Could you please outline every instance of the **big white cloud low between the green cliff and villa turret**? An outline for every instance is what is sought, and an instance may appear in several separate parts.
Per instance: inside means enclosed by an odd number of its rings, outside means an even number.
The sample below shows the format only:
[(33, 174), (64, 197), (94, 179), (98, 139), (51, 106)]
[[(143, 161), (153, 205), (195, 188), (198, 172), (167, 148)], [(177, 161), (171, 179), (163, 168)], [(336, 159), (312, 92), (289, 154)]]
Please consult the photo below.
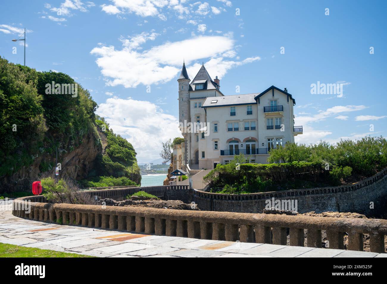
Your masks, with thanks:
[(108, 121), (115, 133), (132, 143), (140, 163), (159, 158), (162, 142), (181, 137), (175, 116), (163, 113), (149, 101), (108, 98), (96, 113)]

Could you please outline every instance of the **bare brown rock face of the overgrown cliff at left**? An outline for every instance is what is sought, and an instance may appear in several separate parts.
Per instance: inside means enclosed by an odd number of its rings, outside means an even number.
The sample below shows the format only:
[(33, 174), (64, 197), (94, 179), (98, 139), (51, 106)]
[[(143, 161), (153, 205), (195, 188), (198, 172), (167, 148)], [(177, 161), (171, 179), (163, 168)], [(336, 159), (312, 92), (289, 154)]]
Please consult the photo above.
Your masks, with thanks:
[[(82, 144), (71, 152), (62, 151), (59, 147), (58, 160), (60, 157), (60, 162), (62, 163), (62, 170), (59, 171), (59, 176), (70, 177), (77, 180), (86, 177), (94, 164), (94, 159), (100, 152), (101, 147), (97, 146), (94, 136), (91, 133), (87, 134), (86, 138), (82, 140)], [(14, 175), (2, 178), (0, 182), (0, 192), (31, 190), (33, 181), (39, 180), (39, 174), (41, 173), (39, 165), (44, 159), (43, 155), (36, 157), (33, 164), (28, 167), (22, 167)], [(55, 157), (55, 154), (52, 156)], [(55, 158), (53, 159), (53, 163), (55, 164)], [(54, 170), (55, 169), (53, 168), (46, 173), (52, 173)]]

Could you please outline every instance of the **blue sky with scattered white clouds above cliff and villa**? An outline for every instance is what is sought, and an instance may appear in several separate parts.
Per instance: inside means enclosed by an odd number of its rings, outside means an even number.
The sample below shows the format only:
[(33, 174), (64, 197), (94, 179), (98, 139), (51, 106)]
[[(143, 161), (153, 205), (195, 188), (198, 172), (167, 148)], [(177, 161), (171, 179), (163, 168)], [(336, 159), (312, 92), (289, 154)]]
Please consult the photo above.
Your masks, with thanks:
[[(296, 99), (295, 124), (304, 127), (296, 142), (386, 135), (385, 1), (0, 5), (0, 56), (23, 63), (21, 42), (11, 39), (26, 27), (26, 65), (67, 73), (89, 89), (97, 113), (134, 145), (139, 162), (157, 159), (161, 142), (179, 136), (183, 58), (191, 79), (204, 62), (225, 95), (236, 86), (241, 94), (286, 87)], [(342, 83), (344, 95), (311, 94), (318, 81)]]

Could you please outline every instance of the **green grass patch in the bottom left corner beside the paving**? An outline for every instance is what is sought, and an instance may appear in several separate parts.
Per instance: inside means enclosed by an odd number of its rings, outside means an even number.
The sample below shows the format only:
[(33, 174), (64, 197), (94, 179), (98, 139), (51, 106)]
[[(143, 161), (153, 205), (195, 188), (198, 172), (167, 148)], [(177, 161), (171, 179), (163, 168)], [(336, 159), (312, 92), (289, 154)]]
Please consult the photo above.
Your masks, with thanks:
[(0, 257), (91, 257), (77, 253), (67, 253), (40, 248), (26, 248), (24, 246), (0, 243)]

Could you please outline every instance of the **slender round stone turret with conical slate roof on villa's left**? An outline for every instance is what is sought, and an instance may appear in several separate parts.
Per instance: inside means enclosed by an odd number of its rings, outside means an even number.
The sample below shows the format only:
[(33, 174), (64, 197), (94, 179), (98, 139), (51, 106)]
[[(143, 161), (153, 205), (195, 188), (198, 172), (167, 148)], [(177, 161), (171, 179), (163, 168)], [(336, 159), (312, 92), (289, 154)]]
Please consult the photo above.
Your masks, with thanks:
[[(190, 78), (187, 74), (187, 69), (185, 68), (185, 62), (183, 62), (182, 72), (180, 73), (179, 78), (179, 122), (182, 125), (187, 125), (190, 122), (190, 98), (189, 98), (189, 87), (190, 87)], [(188, 142), (190, 142), (190, 133), (186, 133), (184, 129), (180, 129), (184, 137), (184, 161), (185, 164), (188, 163)]]

